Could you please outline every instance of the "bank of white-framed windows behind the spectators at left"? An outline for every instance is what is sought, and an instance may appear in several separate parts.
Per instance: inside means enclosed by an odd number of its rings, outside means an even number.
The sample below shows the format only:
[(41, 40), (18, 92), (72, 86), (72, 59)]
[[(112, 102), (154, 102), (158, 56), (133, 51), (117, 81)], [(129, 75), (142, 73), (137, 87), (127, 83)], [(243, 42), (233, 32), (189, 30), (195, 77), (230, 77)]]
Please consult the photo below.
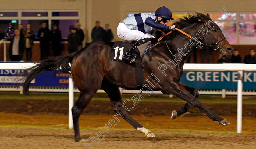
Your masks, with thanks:
[[(58, 25), (59, 30), (62, 33), (62, 39), (67, 39), (70, 34), (70, 29), (76, 26), (79, 22), (79, 11), (70, 10), (49, 10), (49, 11), (1, 11), (0, 12), (0, 39), (4, 38), (5, 29), (9, 23), (12, 22), (14, 28), (18, 28), (18, 24), (23, 24), (23, 28), (26, 28), (27, 24), (31, 25), (34, 29), (34, 35), (36, 37), (38, 30), (42, 27), (42, 23), (46, 23), (51, 30), (54, 24)], [(37, 37), (35, 41), (38, 41)]]

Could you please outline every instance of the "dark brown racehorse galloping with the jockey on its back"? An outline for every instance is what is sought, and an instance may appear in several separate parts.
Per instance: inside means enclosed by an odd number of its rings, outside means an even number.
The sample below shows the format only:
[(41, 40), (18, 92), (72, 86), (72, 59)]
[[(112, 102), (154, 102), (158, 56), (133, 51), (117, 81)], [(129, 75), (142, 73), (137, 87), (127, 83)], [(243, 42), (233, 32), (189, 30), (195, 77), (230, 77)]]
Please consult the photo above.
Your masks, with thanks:
[[(224, 37), (220, 28), (217, 25), (210, 28), (208, 26), (209, 20), (211, 20), (209, 14), (206, 16), (201, 13), (196, 13), (192, 15), (189, 14), (174, 23), (176, 28), (182, 29), (189, 35), (198, 34), (198, 36), (194, 36), (193, 42), (190, 42), (189, 37), (176, 30), (165, 36), (162, 41), (152, 41), (150, 50), (144, 54), (141, 62), (143, 76), (144, 82), (148, 82), (147, 77), (151, 76), (152, 73), (160, 80), (157, 85), (154, 84), (155, 87), (152, 88), (152, 90), (160, 90), (163, 94), (173, 94), (187, 101), (179, 111), (172, 112), (172, 119), (187, 112), (191, 106), (194, 106), (199, 108), (213, 121), (218, 121), (220, 125), (226, 125), (229, 124), (228, 121), (210, 111), (197, 99), (199, 94), (196, 88), (180, 83), (180, 78), (183, 74), (183, 61), (190, 55), (193, 49), (196, 49), (196, 42), (210, 48), (212, 47), (215, 51), (221, 53), (222, 56), (232, 54), (233, 48)], [(202, 30), (202, 28), (206, 31), (208, 30), (209, 33), (198, 32)], [(182, 48), (184, 45), (190, 43), (193, 43), (192, 48), (186, 51), (183, 49), (183, 54), (181, 54), (178, 48)], [(110, 59), (113, 52), (113, 44), (114, 43), (104, 41), (91, 42), (75, 53), (40, 61), (36, 66), (30, 68), (28, 75), (25, 76), (23, 94), (28, 95), (30, 82), (42, 72), (59, 68), (61, 68), (63, 72), (71, 72), (74, 83), (80, 91), (79, 98), (72, 107), (76, 142), (82, 140), (79, 132), (79, 116), (99, 89), (104, 90), (108, 94), (114, 111), (123, 115), (124, 119), (137, 129), (137, 131), (145, 133), (146, 137), (155, 136), (152, 132), (135, 121), (126, 112), (123, 106), (119, 87), (130, 90), (139, 90), (139, 88), (136, 85), (133, 64)], [(174, 55), (179, 53), (180, 58), (177, 60), (177, 57), (174, 57)], [(163, 74), (158, 67), (162, 64), (166, 64), (166, 62), (168, 63), (168, 68), (170, 67), (172, 69), (166, 69), (164, 71), (165, 74)]]

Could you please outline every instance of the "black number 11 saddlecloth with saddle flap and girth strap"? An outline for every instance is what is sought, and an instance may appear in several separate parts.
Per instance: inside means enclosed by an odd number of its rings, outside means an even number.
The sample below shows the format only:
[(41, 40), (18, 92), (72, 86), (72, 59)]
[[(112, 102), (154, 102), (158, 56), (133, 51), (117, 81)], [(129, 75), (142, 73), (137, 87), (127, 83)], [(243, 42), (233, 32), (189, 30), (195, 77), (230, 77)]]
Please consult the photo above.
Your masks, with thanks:
[[(146, 41), (144, 44), (139, 45), (132, 54), (133, 56), (136, 56), (135, 60), (137, 63), (135, 64), (133, 63), (131, 65), (134, 67), (136, 85), (138, 89), (144, 86), (144, 78), (143, 78), (141, 61), (142, 61), (142, 56), (148, 51), (148, 47), (150, 43), (151, 41), (148, 41), (148, 42)], [(116, 41), (112, 48), (113, 53), (111, 55), (111, 60), (128, 63), (127, 61), (122, 60), (122, 56), (125, 54), (126, 51), (130, 49), (132, 45), (133, 44), (131, 43)]]

